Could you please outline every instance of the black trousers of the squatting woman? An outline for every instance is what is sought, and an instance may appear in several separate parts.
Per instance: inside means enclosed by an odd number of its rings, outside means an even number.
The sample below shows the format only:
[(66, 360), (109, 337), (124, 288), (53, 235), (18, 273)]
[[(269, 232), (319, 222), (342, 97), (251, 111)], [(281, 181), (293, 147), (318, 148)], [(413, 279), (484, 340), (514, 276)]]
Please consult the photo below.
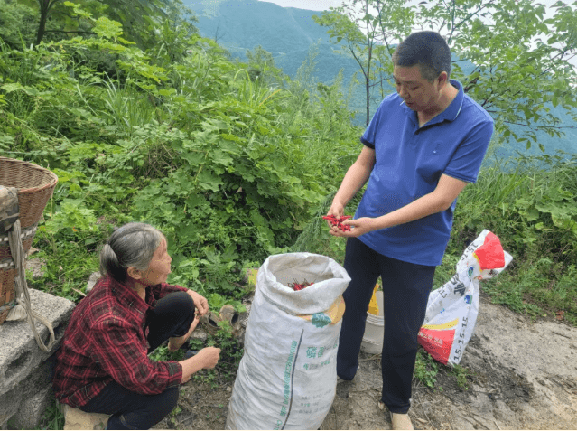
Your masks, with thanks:
[[(174, 292), (164, 296), (154, 306), (149, 320), (149, 352), (171, 337), (188, 333), (193, 319), (194, 303), (190, 295)], [(112, 415), (108, 419), (108, 429), (149, 429), (176, 407), (178, 397), (178, 387), (166, 389), (157, 395), (143, 395), (113, 381), (80, 409), (88, 413)]]

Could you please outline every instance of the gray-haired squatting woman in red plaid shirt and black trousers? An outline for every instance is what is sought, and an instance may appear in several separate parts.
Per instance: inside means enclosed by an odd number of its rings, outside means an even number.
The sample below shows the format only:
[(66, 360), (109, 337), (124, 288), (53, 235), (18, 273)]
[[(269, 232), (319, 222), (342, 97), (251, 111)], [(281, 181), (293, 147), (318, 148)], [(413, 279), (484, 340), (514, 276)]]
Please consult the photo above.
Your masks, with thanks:
[(64, 334), (54, 391), (61, 403), (112, 415), (108, 429), (148, 429), (176, 406), (181, 383), (219, 361), (215, 347), (180, 362), (148, 358), (166, 340), (171, 351), (179, 349), (209, 305), (190, 289), (166, 284), (166, 239), (144, 223), (114, 231), (100, 253), (100, 269), (104, 276), (80, 301)]

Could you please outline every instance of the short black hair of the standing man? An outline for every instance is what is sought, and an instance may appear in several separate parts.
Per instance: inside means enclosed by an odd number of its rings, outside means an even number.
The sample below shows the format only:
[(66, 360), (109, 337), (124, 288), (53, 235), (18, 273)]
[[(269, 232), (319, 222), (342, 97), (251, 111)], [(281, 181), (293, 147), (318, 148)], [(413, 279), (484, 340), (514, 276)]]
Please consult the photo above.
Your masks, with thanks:
[(405, 68), (419, 66), (425, 80), (433, 82), (442, 71), (451, 76), (451, 50), (436, 32), (417, 32), (405, 38), (393, 53), (393, 64)]

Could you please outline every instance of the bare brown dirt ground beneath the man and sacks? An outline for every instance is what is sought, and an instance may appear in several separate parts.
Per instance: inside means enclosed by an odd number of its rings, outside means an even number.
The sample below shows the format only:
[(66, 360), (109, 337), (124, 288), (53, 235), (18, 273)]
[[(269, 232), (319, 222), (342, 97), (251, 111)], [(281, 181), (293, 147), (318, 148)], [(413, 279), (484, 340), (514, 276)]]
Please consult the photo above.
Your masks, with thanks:
[[(380, 356), (361, 352), (360, 361), (355, 379), (337, 385), (321, 429), (390, 429), (377, 408)], [(468, 389), (442, 366), (433, 389), (414, 379), (409, 415), (416, 429), (576, 428), (577, 328), (534, 323), (481, 297), (461, 366), (471, 373)], [(191, 380), (181, 389), (181, 411), (155, 428), (224, 429), (232, 387)]]

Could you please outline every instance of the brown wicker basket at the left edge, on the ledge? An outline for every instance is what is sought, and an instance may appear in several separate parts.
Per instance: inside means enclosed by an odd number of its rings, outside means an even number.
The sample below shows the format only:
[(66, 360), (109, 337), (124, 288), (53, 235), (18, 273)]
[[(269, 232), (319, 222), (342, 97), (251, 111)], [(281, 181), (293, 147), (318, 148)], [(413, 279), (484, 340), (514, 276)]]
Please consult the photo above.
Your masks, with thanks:
[[(32, 246), (36, 226), (56, 183), (58, 177), (48, 169), (37, 164), (0, 157), (0, 185), (18, 189), (24, 252)], [(0, 324), (5, 322), (10, 308), (14, 306), (16, 270), (11, 259), (8, 241), (0, 239)]]

